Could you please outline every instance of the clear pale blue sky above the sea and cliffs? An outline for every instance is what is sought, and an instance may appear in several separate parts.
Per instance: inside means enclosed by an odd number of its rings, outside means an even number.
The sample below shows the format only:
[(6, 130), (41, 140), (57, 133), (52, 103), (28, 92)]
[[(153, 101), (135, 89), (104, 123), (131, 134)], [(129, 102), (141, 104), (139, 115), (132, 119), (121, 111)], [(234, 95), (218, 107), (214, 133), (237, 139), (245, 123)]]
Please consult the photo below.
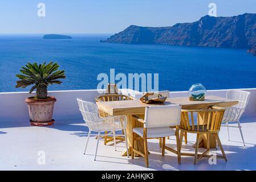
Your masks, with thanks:
[[(113, 34), (131, 24), (194, 22), (216, 3), (217, 16), (256, 13), (256, 0), (0, 0), (0, 34)], [(38, 16), (38, 3), (46, 16)]]

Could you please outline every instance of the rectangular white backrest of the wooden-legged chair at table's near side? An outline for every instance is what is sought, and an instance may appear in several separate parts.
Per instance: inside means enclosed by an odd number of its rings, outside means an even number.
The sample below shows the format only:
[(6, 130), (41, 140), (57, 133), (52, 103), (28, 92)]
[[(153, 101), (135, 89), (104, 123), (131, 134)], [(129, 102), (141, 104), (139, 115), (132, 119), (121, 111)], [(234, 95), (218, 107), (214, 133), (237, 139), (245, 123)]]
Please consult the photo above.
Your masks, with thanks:
[(146, 107), (144, 127), (169, 127), (180, 125), (181, 106)]

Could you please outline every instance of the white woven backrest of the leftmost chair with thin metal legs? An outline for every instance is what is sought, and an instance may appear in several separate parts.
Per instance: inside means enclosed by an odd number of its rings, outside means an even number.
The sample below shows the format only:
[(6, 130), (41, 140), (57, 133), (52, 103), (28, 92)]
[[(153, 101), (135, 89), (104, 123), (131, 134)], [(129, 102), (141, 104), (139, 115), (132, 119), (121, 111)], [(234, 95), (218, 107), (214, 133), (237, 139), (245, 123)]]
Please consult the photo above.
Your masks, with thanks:
[(90, 129), (94, 129), (93, 123), (100, 122), (97, 105), (93, 102), (83, 101), (78, 98), (79, 110), (83, 115), (84, 121), (87, 123)]

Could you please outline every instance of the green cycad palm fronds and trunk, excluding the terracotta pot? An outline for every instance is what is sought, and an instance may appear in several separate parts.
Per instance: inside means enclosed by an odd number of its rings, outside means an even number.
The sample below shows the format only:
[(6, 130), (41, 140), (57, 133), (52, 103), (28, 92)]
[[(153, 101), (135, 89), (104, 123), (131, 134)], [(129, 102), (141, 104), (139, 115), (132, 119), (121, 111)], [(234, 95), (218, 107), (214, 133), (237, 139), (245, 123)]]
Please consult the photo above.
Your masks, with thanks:
[(59, 79), (66, 78), (64, 71), (58, 71), (59, 65), (57, 63), (27, 63), (26, 67), (22, 67), (21, 73), (23, 75), (16, 75), (19, 78), (16, 88), (26, 88), (33, 85), (30, 89), (32, 93), (36, 89), (36, 99), (47, 98), (47, 87), (49, 84), (61, 84)]

